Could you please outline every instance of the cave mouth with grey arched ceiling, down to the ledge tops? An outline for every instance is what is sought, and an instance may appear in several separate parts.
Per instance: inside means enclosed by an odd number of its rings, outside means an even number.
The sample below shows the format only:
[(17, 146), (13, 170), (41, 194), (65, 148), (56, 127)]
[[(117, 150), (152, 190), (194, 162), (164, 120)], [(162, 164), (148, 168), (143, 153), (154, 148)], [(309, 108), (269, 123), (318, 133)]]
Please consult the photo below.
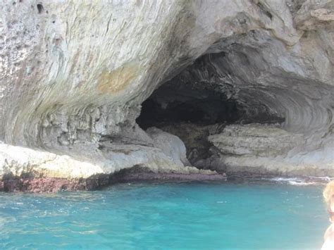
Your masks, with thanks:
[[(234, 57), (242, 58), (238, 59), (240, 65), (247, 70), (250, 66), (245, 62), (245, 55), (236, 53)], [(264, 91), (261, 85), (256, 89), (254, 82), (234, 75), (230, 61), (225, 52), (197, 58), (171, 80), (159, 85), (142, 103), (137, 124), (146, 130), (148, 127), (178, 123), (202, 126), (217, 123), (284, 123), (285, 114), (276, 110), (280, 105), (272, 105), (274, 93), (271, 92), (277, 89)]]

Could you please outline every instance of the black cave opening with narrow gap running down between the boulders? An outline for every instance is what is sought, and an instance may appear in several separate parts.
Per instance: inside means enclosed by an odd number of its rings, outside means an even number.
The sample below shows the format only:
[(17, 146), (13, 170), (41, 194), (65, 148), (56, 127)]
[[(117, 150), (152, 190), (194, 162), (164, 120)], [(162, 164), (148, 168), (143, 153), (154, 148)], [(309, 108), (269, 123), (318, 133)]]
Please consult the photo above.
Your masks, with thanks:
[(180, 137), (187, 149), (187, 159), (199, 168), (201, 160), (214, 154), (208, 141), (211, 133), (225, 125), (238, 123), (243, 109), (235, 99), (207, 85), (192, 85), (179, 79), (166, 82), (142, 104), (137, 124), (143, 130), (158, 127)]

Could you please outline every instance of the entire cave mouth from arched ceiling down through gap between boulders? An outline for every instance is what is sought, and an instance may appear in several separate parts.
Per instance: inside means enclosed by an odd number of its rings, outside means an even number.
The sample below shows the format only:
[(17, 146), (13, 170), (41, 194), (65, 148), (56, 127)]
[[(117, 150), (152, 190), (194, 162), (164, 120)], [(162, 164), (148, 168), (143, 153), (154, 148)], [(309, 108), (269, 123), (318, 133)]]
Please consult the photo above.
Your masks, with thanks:
[[(252, 135), (252, 128), (247, 132), (244, 125), (253, 123), (253, 127), (261, 130), (259, 124), (262, 124), (267, 131), (266, 125), (280, 126), (285, 122), (280, 113), (267, 105), (270, 94), (247, 87), (247, 82), (241, 86), (234, 84), (232, 71), (226, 69), (225, 57), (225, 53), (205, 54), (164, 82), (142, 103), (136, 120), (143, 130), (158, 127), (178, 136), (185, 144), (188, 161), (197, 168), (217, 170), (216, 163), (211, 160), (225, 153), (219, 151), (209, 137), (223, 135), (225, 127), (236, 125), (232, 137), (238, 146), (237, 142), (243, 140), (259, 140), (257, 135)], [(263, 132), (259, 134), (257, 137)], [(223, 138), (226, 136), (229, 135), (224, 134)], [(263, 137), (266, 140), (267, 135)]]

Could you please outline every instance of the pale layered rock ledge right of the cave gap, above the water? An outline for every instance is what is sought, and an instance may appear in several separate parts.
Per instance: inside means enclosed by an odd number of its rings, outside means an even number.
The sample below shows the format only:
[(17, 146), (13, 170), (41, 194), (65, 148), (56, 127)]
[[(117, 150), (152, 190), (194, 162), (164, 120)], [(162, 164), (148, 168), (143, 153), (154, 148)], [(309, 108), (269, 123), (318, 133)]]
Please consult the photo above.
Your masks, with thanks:
[(221, 134), (209, 136), (209, 142), (220, 151), (209, 161), (216, 161), (214, 165), (223, 166), (228, 173), (334, 175), (333, 162), (326, 162), (330, 148), (328, 152), (322, 151), (322, 155), (314, 152), (298, 156), (296, 149), (304, 146), (304, 135), (287, 132), (275, 125), (230, 125)]

